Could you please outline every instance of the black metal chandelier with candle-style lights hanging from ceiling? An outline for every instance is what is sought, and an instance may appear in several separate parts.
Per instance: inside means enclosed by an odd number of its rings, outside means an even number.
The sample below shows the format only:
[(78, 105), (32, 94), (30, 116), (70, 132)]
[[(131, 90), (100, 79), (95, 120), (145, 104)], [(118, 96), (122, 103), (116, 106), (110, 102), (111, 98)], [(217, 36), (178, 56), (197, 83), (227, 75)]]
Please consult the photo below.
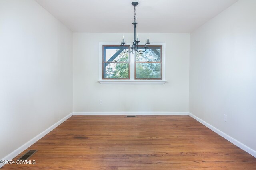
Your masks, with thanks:
[(122, 51), (124, 51), (124, 53), (139, 53), (139, 54), (143, 54), (145, 53), (145, 51), (148, 49), (148, 45), (150, 44), (149, 42), (149, 39), (146, 40), (145, 42), (145, 45), (142, 47), (142, 49), (140, 47), (138, 47), (139, 45), (139, 35), (137, 33), (137, 39), (136, 39), (136, 25), (137, 25), (137, 22), (136, 22), (136, 6), (138, 5), (139, 3), (138, 2), (132, 2), (132, 5), (134, 6), (134, 22), (132, 23), (133, 26), (134, 26), (134, 39), (133, 39), (133, 42), (132, 42), (132, 47), (130, 47), (131, 50), (127, 51), (124, 47), (124, 44), (126, 44), (126, 42), (124, 42), (124, 36), (123, 36), (123, 39), (121, 41), (121, 48), (122, 48)]

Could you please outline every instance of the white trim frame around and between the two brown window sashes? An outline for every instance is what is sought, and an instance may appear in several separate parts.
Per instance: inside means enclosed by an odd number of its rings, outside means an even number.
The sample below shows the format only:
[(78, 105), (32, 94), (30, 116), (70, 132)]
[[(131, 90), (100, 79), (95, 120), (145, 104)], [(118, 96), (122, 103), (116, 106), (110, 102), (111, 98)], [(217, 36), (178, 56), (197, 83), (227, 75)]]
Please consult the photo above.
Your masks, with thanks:
[[(129, 80), (110, 80), (102, 79), (102, 46), (103, 45), (120, 45), (120, 43), (100, 43), (99, 45), (99, 80), (100, 84), (164, 84), (165, 80), (165, 43), (150, 43), (150, 45), (162, 46), (162, 80), (138, 80), (134, 79), (134, 57), (135, 54), (130, 53), (130, 79)], [(125, 45), (132, 45), (132, 43), (126, 43)]]

